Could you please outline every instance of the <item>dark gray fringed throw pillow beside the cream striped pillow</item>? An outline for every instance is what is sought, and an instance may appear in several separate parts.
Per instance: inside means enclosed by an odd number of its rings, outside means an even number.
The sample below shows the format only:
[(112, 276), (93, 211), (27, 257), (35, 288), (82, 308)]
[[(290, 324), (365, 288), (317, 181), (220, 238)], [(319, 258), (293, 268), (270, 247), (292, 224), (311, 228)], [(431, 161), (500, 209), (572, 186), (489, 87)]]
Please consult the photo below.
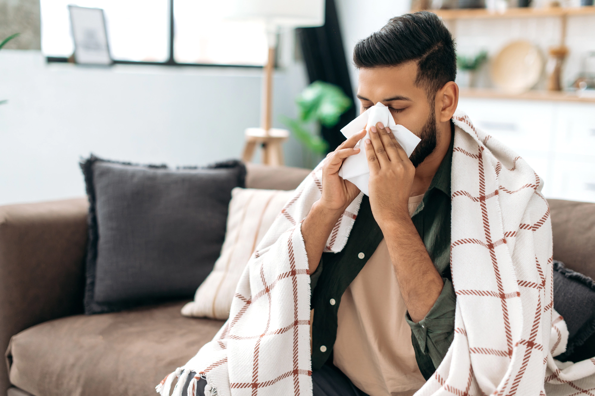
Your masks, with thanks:
[(192, 297), (220, 254), (245, 166), (168, 169), (93, 155), (80, 166), (90, 203), (85, 312)]

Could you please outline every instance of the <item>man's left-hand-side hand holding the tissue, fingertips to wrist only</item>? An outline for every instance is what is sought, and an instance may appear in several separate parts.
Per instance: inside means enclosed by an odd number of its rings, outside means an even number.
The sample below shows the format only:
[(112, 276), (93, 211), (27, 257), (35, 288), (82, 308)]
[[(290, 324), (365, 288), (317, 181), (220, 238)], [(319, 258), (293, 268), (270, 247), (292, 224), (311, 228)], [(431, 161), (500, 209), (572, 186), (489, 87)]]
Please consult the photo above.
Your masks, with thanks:
[(366, 130), (359, 131), (341, 143), (336, 150), (328, 153), (322, 165), (322, 197), (319, 201), (325, 209), (343, 213), (343, 210), (358, 196), (359, 188), (350, 181), (343, 180), (339, 176), (339, 169), (347, 157), (359, 153), (360, 149), (353, 147), (365, 134)]

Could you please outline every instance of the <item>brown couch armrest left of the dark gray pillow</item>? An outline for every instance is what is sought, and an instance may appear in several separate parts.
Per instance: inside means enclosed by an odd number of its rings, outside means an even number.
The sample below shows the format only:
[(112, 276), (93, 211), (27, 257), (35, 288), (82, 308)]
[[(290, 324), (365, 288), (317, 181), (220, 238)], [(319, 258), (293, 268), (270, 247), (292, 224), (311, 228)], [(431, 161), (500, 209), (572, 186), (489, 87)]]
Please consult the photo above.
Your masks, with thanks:
[[(0, 347), (37, 323), (83, 311), (86, 198), (0, 206)], [(9, 382), (0, 370), (0, 392)]]

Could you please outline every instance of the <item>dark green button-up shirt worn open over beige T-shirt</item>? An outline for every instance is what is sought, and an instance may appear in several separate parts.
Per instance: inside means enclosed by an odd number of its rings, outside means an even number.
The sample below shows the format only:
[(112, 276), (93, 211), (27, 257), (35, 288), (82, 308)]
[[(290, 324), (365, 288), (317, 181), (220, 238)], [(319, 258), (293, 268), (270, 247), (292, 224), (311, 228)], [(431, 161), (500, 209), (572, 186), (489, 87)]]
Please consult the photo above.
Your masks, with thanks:
[[(415, 359), (425, 379), (430, 378), (444, 359), (452, 343), (455, 328), (456, 297), (449, 265), (452, 148), (453, 139), (430, 187), (411, 218), (424, 241), (430, 259), (444, 280), (440, 296), (424, 319), (415, 323), (409, 314), (405, 317), (411, 327)], [(320, 264), (311, 275), (311, 308), (314, 309), (312, 370), (320, 369), (331, 356), (337, 337), (337, 312), (343, 292), (359, 274), (383, 238), (382, 231), (372, 215), (369, 199), (364, 196), (343, 250), (339, 253), (322, 253)], [(329, 303), (331, 298), (335, 304)], [(390, 315), (390, 312), (387, 312), (387, 315)]]

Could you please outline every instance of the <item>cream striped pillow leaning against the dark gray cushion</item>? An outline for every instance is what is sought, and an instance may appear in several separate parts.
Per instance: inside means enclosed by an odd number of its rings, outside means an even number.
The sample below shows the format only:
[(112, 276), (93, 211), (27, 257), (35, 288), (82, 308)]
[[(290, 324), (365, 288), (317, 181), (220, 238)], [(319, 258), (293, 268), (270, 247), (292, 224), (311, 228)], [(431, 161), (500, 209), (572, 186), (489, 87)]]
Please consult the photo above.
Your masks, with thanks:
[(240, 275), (264, 234), (294, 190), (231, 190), (227, 231), (221, 256), (213, 271), (196, 290), (194, 301), (182, 308), (184, 316), (227, 319)]

